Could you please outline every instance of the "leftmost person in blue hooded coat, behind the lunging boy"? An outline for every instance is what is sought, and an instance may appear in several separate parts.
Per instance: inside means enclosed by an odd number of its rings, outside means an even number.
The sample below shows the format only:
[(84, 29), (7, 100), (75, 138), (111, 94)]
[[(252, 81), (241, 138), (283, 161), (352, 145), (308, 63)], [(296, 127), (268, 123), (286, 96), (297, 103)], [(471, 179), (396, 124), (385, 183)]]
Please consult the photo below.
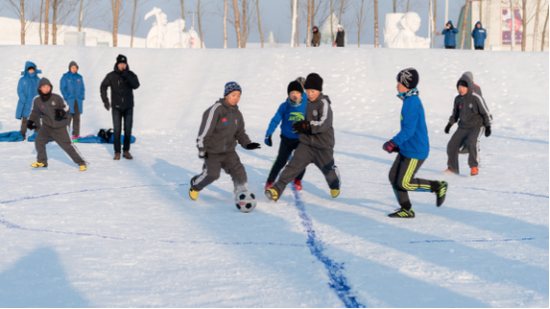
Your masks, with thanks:
[[(38, 82), (40, 81), (38, 74), (41, 73), (41, 70), (36, 69), (36, 64), (34, 64), (34, 62), (27, 61), (25, 63), (25, 71), (21, 72), (23, 77), (19, 79), (19, 84), (17, 84), (19, 101), (17, 102), (15, 118), (21, 119), (21, 134), (23, 134), (23, 138), (26, 138), (27, 121), (31, 114), (32, 102), (38, 95)], [(35, 132), (38, 132), (40, 130), (40, 121), (37, 121), (35, 125)]]

